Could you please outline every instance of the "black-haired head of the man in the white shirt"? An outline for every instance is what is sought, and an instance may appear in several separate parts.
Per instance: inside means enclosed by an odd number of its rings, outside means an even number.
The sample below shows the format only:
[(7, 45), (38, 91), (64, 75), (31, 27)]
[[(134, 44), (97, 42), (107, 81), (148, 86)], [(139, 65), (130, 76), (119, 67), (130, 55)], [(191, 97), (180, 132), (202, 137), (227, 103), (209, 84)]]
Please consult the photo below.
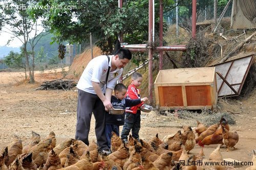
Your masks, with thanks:
[(119, 69), (124, 68), (130, 59), (132, 59), (131, 51), (125, 48), (121, 48), (114, 54), (114, 65)]

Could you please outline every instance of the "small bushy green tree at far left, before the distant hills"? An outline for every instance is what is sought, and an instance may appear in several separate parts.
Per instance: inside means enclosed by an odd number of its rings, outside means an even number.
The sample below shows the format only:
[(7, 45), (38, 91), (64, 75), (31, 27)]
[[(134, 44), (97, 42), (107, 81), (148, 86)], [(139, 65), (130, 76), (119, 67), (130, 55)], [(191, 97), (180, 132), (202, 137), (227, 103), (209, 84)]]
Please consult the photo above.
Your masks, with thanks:
[(26, 61), (23, 52), (17, 53), (10, 51), (10, 53), (3, 59), (3, 61), (10, 68), (25, 69), (25, 77), (27, 78)]

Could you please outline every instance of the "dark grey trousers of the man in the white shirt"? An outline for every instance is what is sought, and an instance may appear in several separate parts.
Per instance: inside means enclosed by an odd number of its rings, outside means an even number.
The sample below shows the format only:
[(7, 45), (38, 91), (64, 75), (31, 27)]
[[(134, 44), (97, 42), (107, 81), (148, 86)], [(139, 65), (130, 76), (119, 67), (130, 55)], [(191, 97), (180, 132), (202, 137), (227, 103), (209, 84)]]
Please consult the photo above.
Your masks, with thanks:
[(103, 102), (95, 94), (78, 90), (75, 139), (81, 140), (87, 145), (89, 145), (88, 136), (92, 113), (95, 117), (95, 134), (99, 145), (99, 151), (108, 149), (108, 142), (104, 132), (105, 109)]

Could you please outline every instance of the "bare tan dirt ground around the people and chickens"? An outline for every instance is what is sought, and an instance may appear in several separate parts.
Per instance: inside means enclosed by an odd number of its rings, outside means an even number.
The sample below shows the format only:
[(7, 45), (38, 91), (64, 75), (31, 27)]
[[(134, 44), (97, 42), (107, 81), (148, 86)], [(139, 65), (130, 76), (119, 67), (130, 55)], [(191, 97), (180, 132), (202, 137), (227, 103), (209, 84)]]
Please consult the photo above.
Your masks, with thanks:
[[(46, 137), (51, 131), (56, 134), (57, 143), (66, 138), (74, 138), (76, 125), (77, 90), (34, 90), (40, 86), (39, 82), (61, 77), (61, 69), (35, 73), (38, 83), (28, 84), (22, 72), (0, 72), (0, 148), (7, 146), (14, 135), (23, 140), (23, 144), (30, 141), (31, 131)], [(218, 107), (230, 114), (235, 114), (236, 125), (231, 125), (231, 131), (237, 131), (239, 142), (237, 150), (225, 152), (221, 148), (223, 158), (239, 161), (251, 161), (252, 150), (256, 148), (256, 92), (248, 99), (230, 102), (222, 99)], [(166, 119), (156, 112), (142, 113), (140, 137), (149, 141), (157, 133), (160, 138), (176, 133), (172, 122), (161, 126)], [(95, 139), (94, 120), (91, 123), (90, 140)], [(185, 125), (179, 120), (180, 126)], [(166, 122), (165, 122), (166, 124)], [(196, 120), (195, 124), (196, 125)], [(206, 158), (217, 145), (205, 146)], [(198, 145), (190, 155), (199, 153)], [(245, 169), (246, 166), (237, 169)]]

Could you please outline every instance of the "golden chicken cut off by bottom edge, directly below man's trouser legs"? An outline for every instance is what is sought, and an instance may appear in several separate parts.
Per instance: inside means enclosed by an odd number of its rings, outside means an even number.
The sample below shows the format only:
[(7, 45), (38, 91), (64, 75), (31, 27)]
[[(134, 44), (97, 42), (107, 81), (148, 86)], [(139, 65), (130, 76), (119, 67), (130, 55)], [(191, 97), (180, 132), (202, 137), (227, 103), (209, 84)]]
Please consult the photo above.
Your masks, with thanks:
[(90, 157), (90, 152), (87, 151), (81, 156), (81, 160), (76, 162), (75, 164), (61, 168), (62, 170), (88, 170), (93, 169), (93, 163)]

